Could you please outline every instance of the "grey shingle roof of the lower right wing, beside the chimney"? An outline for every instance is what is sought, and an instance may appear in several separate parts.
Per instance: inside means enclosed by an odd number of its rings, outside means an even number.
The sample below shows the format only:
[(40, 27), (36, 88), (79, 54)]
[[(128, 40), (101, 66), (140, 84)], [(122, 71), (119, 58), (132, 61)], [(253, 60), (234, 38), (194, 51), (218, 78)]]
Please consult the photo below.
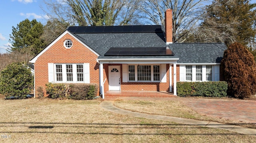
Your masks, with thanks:
[(174, 43), (168, 47), (180, 59), (177, 63), (220, 63), (224, 51), (224, 43)]

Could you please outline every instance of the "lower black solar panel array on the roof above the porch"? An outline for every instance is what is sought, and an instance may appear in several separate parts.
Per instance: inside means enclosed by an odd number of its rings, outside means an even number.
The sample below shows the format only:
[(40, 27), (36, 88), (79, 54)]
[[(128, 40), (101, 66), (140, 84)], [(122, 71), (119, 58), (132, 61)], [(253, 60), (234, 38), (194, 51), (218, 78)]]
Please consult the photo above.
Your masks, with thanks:
[(169, 48), (166, 47), (111, 47), (105, 56), (162, 56), (174, 55)]

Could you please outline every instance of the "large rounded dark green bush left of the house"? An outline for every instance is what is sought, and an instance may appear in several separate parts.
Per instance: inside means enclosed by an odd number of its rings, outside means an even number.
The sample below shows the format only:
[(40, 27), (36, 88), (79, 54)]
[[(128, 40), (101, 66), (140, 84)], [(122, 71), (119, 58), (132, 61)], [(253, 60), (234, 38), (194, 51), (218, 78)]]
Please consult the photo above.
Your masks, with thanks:
[(12, 63), (0, 72), (0, 93), (6, 98), (26, 98), (33, 89), (34, 76), (25, 63)]

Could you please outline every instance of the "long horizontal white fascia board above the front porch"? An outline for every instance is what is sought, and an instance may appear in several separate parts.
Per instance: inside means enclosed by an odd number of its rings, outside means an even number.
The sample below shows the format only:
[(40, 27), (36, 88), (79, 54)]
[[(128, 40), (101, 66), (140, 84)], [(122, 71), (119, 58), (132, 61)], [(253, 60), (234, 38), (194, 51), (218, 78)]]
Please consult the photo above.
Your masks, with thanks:
[(102, 64), (170, 64), (177, 63), (179, 58), (166, 59), (166, 58), (135, 58), (135, 59), (97, 59), (98, 63)]

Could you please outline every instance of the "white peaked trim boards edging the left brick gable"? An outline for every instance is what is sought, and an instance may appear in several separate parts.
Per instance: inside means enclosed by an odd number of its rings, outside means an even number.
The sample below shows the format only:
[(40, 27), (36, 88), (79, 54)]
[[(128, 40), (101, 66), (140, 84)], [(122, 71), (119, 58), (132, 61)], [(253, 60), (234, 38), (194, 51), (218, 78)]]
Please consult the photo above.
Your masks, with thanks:
[(38, 57), (40, 57), (45, 51), (47, 51), (50, 47), (52, 47), (52, 45), (54, 45), (57, 41), (59, 41), (64, 35), (69, 34), (71, 35), (74, 39), (76, 39), (78, 42), (80, 42), (82, 45), (84, 45), (84, 47), (88, 48), (90, 51), (92, 51), (95, 55), (100, 56), (98, 53), (96, 53), (92, 48), (90, 48), (88, 45), (84, 44), (81, 40), (79, 40), (78, 38), (76, 38), (72, 33), (70, 33), (70, 31), (66, 30), (64, 31), (58, 38), (56, 38), (54, 41), (52, 41), (52, 43), (50, 43), (50, 45), (48, 45), (46, 48), (43, 49), (43, 51), (41, 51), (38, 55), (36, 55), (36, 57), (34, 57), (31, 61), (29, 61), (30, 63), (36, 63), (36, 60), (38, 59)]

